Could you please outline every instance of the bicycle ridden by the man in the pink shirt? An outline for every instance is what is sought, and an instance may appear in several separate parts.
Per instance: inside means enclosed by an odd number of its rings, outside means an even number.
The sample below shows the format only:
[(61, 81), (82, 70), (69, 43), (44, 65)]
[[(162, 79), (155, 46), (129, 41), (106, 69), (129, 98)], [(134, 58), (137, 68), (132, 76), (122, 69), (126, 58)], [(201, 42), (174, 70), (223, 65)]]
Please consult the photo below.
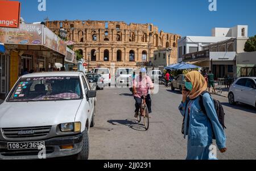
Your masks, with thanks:
[(148, 130), (149, 127), (149, 116), (148, 116), (148, 109), (147, 109), (147, 104), (146, 104), (146, 96), (142, 96), (142, 103), (141, 107), (139, 108), (139, 114), (138, 114), (138, 123), (141, 122), (141, 117), (143, 116), (144, 120), (144, 127), (146, 128), (146, 131)]

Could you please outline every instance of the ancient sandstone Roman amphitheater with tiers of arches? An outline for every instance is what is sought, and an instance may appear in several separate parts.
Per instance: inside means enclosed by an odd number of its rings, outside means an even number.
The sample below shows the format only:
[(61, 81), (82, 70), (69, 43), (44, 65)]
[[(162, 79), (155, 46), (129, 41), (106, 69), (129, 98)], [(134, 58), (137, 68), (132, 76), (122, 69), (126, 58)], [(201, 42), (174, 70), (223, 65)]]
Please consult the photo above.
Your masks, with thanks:
[[(177, 40), (180, 35), (159, 32), (153, 24), (137, 24), (92, 20), (48, 21), (46, 26), (56, 34), (67, 31), (67, 39), (76, 43), (89, 69), (96, 67), (138, 68), (150, 65), (157, 49), (172, 48), (171, 63), (177, 62)], [(142, 59), (146, 62), (142, 63)], [(144, 61), (144, 60), (143, 60)]]

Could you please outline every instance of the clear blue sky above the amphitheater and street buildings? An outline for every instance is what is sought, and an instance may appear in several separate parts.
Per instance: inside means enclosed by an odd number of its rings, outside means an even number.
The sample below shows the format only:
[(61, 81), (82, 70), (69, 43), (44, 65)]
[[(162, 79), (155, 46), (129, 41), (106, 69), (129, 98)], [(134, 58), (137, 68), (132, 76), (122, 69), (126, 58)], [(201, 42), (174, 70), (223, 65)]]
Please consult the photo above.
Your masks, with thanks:
[(38, 11), (38, 0), (20, 0), (26, 22), (50, 20), (118, 20), (153, 23), (159, 31), (182, 36), (210, 36), (213, 27), (249, 25), (256, 35), (255, 0), (217, 0), (217, 11), (208, 10), (208, 0), (46, 0), (46, 11)]

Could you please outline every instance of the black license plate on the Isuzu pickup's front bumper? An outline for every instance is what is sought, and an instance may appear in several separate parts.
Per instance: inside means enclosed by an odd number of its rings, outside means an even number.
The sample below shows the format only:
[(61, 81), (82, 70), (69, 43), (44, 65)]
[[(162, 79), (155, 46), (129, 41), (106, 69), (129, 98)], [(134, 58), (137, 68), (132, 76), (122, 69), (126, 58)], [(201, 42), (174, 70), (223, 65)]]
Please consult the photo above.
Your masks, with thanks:
[(17, 142), (7, 143), (8, 149), (38, 149), (44, 147), (44, 141), (29, 141), (29, 142)]

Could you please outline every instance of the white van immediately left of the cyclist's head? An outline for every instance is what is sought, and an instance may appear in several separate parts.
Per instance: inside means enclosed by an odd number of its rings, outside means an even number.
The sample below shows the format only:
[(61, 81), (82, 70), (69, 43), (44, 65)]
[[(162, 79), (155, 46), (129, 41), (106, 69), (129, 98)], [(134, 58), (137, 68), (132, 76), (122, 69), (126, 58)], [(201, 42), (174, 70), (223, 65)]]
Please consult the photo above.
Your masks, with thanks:
[(133, 68), (117, 68), (115, 71), (115, 85), (131, 85), (133, 82)]

